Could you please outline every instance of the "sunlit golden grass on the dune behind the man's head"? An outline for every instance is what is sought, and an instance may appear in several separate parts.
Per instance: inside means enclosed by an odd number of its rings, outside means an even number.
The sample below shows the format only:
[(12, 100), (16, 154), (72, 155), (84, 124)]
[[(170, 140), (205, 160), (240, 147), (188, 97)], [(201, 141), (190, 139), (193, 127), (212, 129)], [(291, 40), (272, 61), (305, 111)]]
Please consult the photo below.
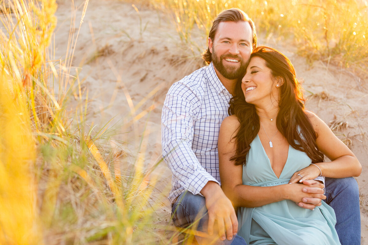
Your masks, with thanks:
[[(183, 42), (195, 55), (206, 43), (196, 43), (192, 33), (208, 37), (212, 21), (227, 8), (244, 10), (266, 40), (296, 46), (309, 62), (322, 60), (349, 68), (368, 78), (367, 0), (139, 0), (166, 10)], [(135, 3), (137, 5), (137, 3)], [(265, 41), (266, 41), (265, 40)], [(206, 39), (205, 39), (206, 41)], [(262, 44), (262, 43), (261, 43)]]

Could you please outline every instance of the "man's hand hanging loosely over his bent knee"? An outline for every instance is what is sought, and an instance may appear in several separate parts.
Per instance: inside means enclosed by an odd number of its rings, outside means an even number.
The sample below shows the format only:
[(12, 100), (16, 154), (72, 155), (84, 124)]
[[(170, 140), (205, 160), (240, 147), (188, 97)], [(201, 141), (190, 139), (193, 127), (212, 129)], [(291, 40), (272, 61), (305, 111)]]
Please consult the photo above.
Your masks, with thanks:
[(227, 237), (231, 240), (238, 231), (238, 220), (231, 201), (221, 190), (220, 185), (214, 181), (208, 181), (202, 188), (201, 194), (206, 199), (208, 210), (208, 234), (213, 234), (213, 227), (217, 221), (220, 239), (225, 240)]

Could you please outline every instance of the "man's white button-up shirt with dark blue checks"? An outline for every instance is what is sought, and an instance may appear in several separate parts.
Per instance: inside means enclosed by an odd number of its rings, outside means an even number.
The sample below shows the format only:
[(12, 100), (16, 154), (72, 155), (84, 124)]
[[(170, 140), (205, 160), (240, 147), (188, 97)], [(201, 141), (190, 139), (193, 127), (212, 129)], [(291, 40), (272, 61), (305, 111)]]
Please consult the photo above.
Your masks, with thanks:
[(161, 118), (162, 155), (173, 174), (171, 203), (185, 190), (200, 194), (208, 181), (220, 184), (217, 140), (231, 97), (212, 63), (167, 92)]

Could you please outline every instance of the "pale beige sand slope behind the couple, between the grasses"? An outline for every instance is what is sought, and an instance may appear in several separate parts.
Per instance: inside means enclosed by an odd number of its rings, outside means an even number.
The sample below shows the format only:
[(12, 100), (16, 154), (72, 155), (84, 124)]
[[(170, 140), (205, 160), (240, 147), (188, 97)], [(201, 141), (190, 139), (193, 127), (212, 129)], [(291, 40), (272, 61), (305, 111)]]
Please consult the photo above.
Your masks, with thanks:
[[(83, 1), (75, 1), (75, 12), (70, 1), (58, 0), (57, 28), (55, 32), (56, 58), (64, 59), (71, 18), (77, 31)], [(88, 91), (88, 127), (102, 128), (106, 123), (114, 129), (112, 138), (116, 166), (130, 169), (138, 155), (146, 167), (161, 158), (160, 117), (167, 90), (177, 80), (203, 66), (201, 58), (194, 56), (180, 42), (174, 26), (163, 13), (152, 7), (118, 0), (90, 1), (80, 29), (72, 66), (79, 72), (82, 89)], [(198, 36), (198, 45), (206, 47), (206, 37)], [(280, 45), (284, 44), (284, 45)], [(357, 177), (361, 198), (362, 243), (368, 244), (368, 92), (364, 80), (346, 69), (324, 62), (309, 65), (296, 54), (296, 48), (286, 42), (265, 39), (259, 44), (277, 48), (286, 54), (297, 75), (302, 78), (309, 100), (308, 110), (315, 112), (328, 125), (336, 129), (340, 139), (358, 157), (363, 169)], [(190, 57), (190, 58), (188, 58)], [(87, 93), (84, 93), (84, 98)], [(70, 101), (73, 111), (77, 101)], [(143, 147), (139, 141), (143, 139)], [(126, 143), (123, 143), (124, 141)], [(156, 176), (159, 180), (154, 181)], [(158, 223), (170, 221), (170, 207), (165, 198), (170, 189), (171, 172), (161, 162), (153, 174), (158, 191), (156, 202)], [(348, 207), (346, 207), (348, 208)]]

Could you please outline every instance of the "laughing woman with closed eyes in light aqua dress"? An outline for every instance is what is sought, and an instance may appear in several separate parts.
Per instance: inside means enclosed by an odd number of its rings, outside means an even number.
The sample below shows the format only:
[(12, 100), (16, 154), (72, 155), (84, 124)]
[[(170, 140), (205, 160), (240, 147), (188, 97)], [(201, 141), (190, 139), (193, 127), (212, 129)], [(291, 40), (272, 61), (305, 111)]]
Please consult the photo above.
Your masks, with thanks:
[[(257, 245), (340, 244), (330, 206), (296, 205), (307, 196), (299, 183), (321, 175), (359, 176), (361, 165), (318, 116), (304, 110), (289, 59), (273, 48), (255, 48), (235, 93), (218, 147), (222, 188), (240, 207), (238, 234)], [(323, 154), (331, 162), (323, 162)]]

